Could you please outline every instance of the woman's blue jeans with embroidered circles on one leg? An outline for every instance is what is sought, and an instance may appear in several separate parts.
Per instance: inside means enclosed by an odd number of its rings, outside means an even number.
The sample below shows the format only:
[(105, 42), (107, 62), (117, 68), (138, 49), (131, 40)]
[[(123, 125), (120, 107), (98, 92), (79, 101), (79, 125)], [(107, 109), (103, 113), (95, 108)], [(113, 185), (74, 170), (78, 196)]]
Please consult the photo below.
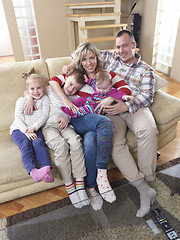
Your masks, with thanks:
[(95, 187), (97, 169), (107, 169), (110, 160), (114, 125), (109, 118), (93, 113), (72, 118), (71, 125), (78, 134), (84, 134), (86, 186)]

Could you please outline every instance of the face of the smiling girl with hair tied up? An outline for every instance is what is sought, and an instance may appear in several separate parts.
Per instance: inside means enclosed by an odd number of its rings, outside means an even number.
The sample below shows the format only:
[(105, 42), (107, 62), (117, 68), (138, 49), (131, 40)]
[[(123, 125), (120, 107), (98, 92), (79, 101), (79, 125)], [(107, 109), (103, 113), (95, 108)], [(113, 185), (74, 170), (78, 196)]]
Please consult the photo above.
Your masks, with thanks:
[(30, 82), (27, 87), (27, 92), (33, 99), (40, 99), (44, 95), (44, 86), (39, 81)]

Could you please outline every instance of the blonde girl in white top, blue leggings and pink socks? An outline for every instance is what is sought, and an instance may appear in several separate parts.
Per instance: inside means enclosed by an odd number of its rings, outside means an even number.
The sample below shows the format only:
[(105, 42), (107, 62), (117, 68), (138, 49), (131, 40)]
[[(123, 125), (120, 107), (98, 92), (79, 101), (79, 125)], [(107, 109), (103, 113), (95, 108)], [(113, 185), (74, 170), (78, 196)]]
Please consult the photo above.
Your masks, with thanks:
[[(23, 164), (35, 182), (53, 182), (51, 160), (44, 144), (41, 127), (49, 115), (49, 98), (45, 95), (45, 83), (41, 76), (30, 71), (24, 74), (26, 90), (36, 104), (32, 115), (26, 114), (24, 107), (26, 97), (20, 97), (16, 102), (15, 120), (10, 127), (13, 141), (21, 151)], [(32, 74), (31, 74), (32, 73)], [(40, 166), (37, 168), (36, 160)]]

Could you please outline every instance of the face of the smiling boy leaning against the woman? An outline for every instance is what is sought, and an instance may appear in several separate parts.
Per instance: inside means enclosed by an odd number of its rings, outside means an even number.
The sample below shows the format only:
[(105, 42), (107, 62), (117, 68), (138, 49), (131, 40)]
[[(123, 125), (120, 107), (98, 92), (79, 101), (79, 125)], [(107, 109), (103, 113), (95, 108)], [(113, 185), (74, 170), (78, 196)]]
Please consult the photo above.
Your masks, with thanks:
[(81, 87), (82, 84), (77, 83), (76, 79), (73, 76), (68, 76), (67, 79), (65, 80), (63, 90), (67, 96), (71, 96), (76, 94)]

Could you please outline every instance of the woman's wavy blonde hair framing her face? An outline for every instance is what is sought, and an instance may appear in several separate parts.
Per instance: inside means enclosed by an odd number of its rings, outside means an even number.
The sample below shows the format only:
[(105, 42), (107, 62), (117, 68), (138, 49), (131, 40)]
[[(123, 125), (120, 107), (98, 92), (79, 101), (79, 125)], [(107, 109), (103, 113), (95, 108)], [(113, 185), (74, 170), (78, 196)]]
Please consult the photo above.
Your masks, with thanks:
[(98, 72), (100, 69), (102, 69), (103, 63), (101, 60), (100, 52), (98, 51), (97, 47), (91, 42), (81, 43), (77, 47), (77, 49), (75, 51), (75, 57), (74, 57), (74, 60), (76, 63), (76, 68), (80, 69), (85, 74), (87, 74), (85, 69), (82, 66), (82, 60), (83, 60), (84, 56), (88, 53), (88, 51), (92, 51), (97, 58), (97, 67), (96, 67), (95, 71)]

